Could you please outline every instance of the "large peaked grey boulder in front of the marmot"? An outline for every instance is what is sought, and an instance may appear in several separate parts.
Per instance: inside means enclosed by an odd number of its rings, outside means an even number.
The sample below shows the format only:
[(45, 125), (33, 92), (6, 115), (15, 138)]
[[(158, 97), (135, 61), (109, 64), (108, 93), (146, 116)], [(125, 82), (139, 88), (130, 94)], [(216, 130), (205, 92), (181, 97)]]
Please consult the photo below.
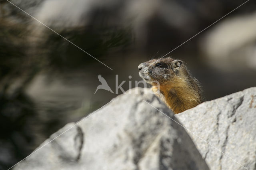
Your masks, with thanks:
[[(15, 170), (207, 170), (173, 113), (149, 89), (132, 89), (43, 142)], [(76, 126), (75, 126), (76, 125)]]

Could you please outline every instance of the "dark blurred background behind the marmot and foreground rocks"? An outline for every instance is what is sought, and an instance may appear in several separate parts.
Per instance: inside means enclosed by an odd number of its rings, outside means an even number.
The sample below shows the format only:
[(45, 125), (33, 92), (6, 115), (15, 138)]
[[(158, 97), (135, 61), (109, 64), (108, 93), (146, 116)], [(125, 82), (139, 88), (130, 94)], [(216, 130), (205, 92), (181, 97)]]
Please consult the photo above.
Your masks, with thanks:
[[(0, 169), (28, 156), (53, 132), (140, 81), (138, 65), (159, 58), (245, 0), (0, 0)], [(256, 1), (250, 0), (172, 51), (205, 101), (256, 86)], [(132, 78), (128, 78), (128, 76)], [(118, 92), (122, 94), (122, 91)]]

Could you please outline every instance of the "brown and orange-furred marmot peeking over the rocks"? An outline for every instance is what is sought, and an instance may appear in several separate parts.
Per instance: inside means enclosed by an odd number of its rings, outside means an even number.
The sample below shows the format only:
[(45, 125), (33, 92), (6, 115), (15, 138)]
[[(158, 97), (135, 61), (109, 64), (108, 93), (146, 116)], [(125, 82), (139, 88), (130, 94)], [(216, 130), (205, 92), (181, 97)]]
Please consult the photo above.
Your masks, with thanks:
[(152, 59), (141, 63), (138, 69), (140, 77), (152, 85), (152, 91), (174, 114), (202, 103), (199, 82), (182, 61), (171, 57)]

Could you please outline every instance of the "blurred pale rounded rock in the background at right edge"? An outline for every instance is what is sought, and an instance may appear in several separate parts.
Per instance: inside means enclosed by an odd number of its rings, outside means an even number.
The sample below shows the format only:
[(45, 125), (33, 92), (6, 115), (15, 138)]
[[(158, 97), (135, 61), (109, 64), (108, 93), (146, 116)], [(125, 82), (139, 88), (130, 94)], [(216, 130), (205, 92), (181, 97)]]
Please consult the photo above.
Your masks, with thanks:
[(256, 12), (225, 20), (205, 36), (201, 50), (216, 69), (256, 69)]

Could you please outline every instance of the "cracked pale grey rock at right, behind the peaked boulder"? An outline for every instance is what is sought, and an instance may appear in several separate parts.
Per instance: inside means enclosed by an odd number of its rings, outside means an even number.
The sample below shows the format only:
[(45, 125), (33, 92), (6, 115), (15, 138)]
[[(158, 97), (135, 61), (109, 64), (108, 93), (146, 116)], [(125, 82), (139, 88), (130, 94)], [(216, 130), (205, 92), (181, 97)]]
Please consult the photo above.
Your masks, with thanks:
[(204, 102), (176, 117), (210, 169), (256, 170), (256, 87)]

